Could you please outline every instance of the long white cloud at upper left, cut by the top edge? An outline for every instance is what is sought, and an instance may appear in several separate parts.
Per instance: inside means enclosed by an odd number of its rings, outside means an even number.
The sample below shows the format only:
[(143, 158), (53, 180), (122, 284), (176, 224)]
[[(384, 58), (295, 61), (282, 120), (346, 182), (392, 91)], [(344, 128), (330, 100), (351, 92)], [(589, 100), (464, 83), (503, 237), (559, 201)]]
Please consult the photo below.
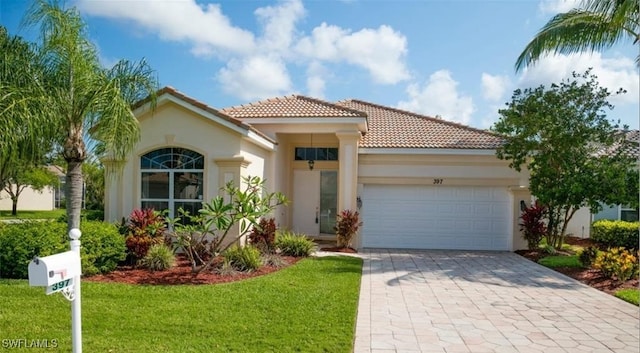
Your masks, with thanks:
[(254, 48), (251, 32), (231, 24), (218, 4), (199, 5), (195, 0), (79, 0), (83, 13), (133, 21), (167, 41), (186, 41), (197, 55), (216, 50), (247, 53)]

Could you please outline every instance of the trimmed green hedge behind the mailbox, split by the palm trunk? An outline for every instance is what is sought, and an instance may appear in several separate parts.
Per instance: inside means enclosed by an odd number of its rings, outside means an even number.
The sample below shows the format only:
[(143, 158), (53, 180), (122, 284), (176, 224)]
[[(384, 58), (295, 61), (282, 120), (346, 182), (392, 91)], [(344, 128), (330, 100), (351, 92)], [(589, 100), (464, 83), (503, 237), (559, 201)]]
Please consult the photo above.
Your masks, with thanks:
[[(109, 223), (85, 221), (80, 238), (82, 274), (113, 271), (125, 257), (124, 238)], [(69, 250), (67, 225), (60, 222), (23, 222), (0, 227), (0, 278), (28, 278), (34, 256)]]

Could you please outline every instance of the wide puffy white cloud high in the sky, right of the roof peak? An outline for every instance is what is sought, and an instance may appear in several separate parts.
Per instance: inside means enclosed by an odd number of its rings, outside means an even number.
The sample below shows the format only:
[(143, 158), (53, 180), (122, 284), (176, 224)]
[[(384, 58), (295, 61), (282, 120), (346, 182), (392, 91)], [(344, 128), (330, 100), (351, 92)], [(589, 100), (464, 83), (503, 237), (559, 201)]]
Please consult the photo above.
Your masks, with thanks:
[(404, 63), (407, 39), (382, 25), (357, 32), (322, 23), (302, 38), (297, 51), (314, 60), (345, 61), (369, 71), (381, 84), (396, 84), (410, 78)]

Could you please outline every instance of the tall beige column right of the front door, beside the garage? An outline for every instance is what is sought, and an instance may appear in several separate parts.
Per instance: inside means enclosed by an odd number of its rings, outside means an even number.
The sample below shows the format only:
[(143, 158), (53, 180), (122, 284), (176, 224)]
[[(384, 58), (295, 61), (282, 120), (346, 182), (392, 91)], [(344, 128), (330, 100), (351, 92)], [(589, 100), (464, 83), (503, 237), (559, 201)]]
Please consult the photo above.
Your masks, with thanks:
[(338, 131), (338, 212), (356, 210), (358, 194), (358, 142), (359, 131)]

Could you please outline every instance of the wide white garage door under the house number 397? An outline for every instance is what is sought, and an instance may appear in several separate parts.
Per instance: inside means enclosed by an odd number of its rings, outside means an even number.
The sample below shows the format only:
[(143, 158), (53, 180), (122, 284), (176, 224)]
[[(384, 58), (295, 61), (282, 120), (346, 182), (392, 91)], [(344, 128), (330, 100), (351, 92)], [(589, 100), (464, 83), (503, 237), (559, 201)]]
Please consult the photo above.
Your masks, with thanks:
[(508, 250), (505, 188), (365, 185), (365, 248)]

